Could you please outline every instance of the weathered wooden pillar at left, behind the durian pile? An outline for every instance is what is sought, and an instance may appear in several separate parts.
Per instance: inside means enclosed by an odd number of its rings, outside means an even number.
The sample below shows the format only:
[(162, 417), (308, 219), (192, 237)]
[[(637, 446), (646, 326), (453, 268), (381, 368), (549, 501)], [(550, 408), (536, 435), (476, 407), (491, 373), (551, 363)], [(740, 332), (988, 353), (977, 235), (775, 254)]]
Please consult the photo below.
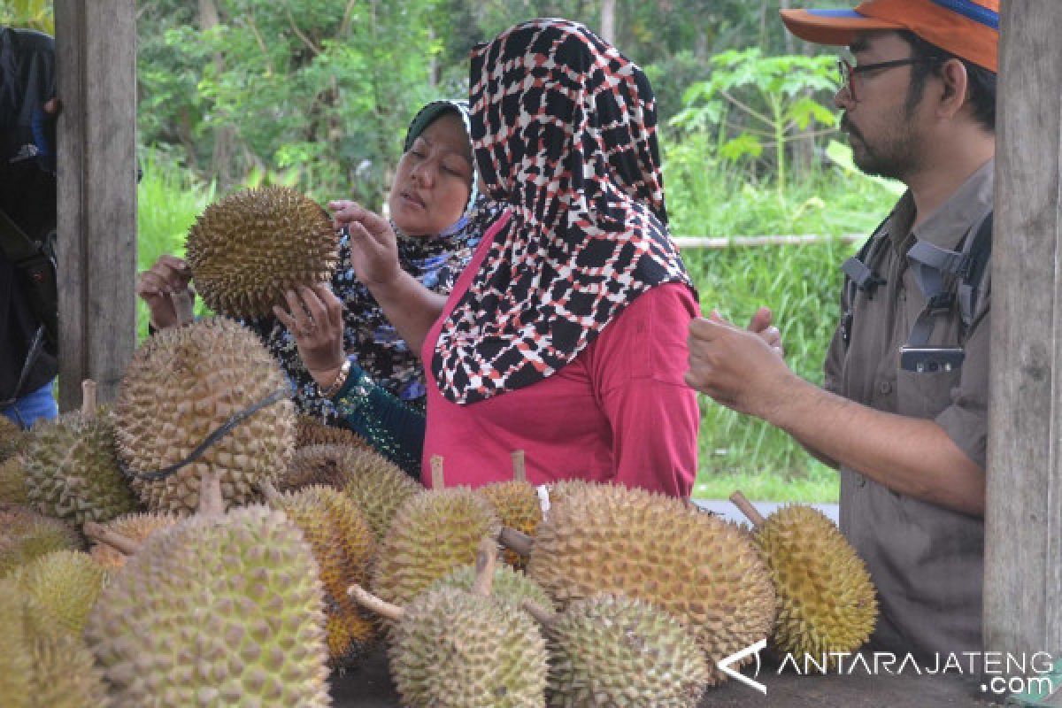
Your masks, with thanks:
[(136, 345), (136, 7), (55, 0), (59, 408), (115, 395)]

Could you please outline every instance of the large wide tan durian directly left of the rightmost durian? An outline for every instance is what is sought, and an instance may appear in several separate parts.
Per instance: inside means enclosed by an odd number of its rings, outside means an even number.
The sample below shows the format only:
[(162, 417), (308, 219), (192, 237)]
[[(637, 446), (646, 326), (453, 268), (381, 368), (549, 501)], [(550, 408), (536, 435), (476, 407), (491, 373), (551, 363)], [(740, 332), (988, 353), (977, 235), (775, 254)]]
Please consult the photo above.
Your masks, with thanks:
[(736, 523), (616, 485), (572, 488), (538, 525), (528, 574), (566, 607), (599, 592), (638, 598), (690, 628), (708, 663), (767, 637), (774, 586)]

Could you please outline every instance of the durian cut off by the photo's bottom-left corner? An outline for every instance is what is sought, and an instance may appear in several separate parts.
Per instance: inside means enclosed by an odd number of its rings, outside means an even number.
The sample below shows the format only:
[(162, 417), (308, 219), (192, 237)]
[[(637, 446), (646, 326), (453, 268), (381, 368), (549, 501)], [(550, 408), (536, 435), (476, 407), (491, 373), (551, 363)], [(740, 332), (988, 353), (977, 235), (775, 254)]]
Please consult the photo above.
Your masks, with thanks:
[(5, 708), (106, 708), (101, 672), (81, 639), (15, 585), (0, 582), (0, 701)]

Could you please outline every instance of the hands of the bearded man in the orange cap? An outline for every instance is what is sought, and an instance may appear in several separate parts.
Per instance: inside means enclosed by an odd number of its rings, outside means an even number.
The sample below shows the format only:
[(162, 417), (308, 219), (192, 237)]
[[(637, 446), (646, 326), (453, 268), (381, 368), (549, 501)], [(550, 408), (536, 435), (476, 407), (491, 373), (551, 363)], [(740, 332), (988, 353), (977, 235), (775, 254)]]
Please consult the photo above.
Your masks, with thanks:
[(689, 324), (689, 370), (686, 383), (717, 402), (759, 418), (771, 414), (799, 379), (782, 358), (782, 336), (760, 309), (749, 329), (713, 312)]

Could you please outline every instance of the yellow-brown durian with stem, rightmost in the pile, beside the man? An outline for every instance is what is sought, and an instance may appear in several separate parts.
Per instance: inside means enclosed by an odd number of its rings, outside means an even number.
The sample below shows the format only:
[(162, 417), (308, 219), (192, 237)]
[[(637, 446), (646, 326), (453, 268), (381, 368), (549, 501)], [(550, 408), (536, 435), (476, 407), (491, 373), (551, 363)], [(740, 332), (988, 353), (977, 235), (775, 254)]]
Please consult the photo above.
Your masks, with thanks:
[(764, 519), (741, 495), (731, 500), (756, 529), (774, 581), (778, 651), (836, 664), (830, 653), (855, 652), (877, 623), (877, 591), (867, 566), (833, 521), (803, 504)]

